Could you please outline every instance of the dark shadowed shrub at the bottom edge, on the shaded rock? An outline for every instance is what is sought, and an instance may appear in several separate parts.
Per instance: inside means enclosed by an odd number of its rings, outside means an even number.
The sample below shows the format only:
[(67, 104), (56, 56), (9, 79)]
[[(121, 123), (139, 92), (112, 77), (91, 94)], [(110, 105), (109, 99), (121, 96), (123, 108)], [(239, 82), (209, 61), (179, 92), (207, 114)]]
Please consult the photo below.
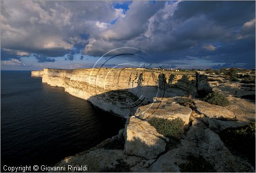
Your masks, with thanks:
[(216, 172), (214, 166), (202, 156), (188, 156), (185, 163), (180, 164), (181, 172)]

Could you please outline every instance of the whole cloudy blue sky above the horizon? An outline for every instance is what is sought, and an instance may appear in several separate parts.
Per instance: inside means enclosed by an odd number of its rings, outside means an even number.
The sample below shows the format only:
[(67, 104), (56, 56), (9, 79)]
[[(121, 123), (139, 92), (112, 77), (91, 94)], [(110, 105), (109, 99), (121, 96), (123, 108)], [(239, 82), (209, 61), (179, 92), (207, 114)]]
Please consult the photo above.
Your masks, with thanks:
[(1, 1), (1, 70), (255, 69), (255, 1)]

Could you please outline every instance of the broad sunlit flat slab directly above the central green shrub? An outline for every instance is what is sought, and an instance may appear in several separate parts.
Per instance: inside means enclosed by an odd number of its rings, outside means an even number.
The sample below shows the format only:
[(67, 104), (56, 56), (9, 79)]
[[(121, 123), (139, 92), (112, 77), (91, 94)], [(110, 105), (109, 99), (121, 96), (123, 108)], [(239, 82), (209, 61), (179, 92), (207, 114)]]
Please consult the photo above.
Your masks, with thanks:
[(135, 116), (139, 116), (141, 119), (157, 117), (173, 120), (180, 118), (185, 124), (188, 124), (191, 112), (192, 110), (189, 107), (182, 106), (170, 99), (169, 101), (164, 100), (163, 102), (140, 106)]

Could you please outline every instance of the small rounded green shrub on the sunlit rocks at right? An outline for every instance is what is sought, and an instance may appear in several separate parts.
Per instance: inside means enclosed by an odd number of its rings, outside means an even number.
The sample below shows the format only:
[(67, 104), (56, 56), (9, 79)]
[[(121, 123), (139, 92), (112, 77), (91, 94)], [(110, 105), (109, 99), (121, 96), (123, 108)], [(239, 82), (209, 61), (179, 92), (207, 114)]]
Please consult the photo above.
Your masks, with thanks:
[(205, 96), (203, 98), (203, 101), (206, 101), (210, 104), (219, 105), (219, 106), (228, 106), (229, 105), (228, 99), (225, 96), (223, 96), (222, 94), (219, 94), (216, 92), (209, 93), (207, 96)]

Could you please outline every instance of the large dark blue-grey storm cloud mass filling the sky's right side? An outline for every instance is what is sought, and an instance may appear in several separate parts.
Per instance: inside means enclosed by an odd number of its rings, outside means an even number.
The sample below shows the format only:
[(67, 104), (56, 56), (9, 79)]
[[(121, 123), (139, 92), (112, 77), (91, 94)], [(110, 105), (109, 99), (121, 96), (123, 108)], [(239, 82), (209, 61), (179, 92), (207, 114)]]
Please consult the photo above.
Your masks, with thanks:
[[(129, 22), (128, 10), (124, 18), (102, 33), (101, 39), (91, 38), (85, 52), (100, 56), (105, 50), (131, 46), (145, 50), (152, 55), (152, 60), (157, 57), (162, 63), (194, 56), (204, 62), (254, 64), (254, 5), (255, 2), (186, 1), (165, 4), (160, 9), (145, 7), (144, 10), (151, 11), (147, 13), (147, 23)], [(132, 7), (132, 14), (139, 15), (141, 9)], [(118, 25), (124, 21), (125, 25)], [(141, 26), (137, 30), (132, 28), (136, 35), (127, 34), (131, 29), (129, 25)]]

